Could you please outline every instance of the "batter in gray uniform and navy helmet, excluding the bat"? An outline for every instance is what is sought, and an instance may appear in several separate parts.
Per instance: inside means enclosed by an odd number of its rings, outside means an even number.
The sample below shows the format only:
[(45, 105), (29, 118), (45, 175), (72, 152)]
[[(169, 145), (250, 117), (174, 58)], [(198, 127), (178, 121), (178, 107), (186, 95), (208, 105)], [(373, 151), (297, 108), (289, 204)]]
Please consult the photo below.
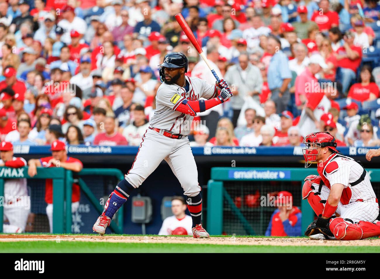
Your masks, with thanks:
[[(201, 187), (187, 135), (197, 112), (222, 104), (232, 93), (224, 80), (210, 85), (204, 80), (185, 76), (187, 65), (186, 56), (180, 52), (166, 54), (163, 63), (158, 65), (161, 67), (160, 79), (163, 83), (157, 90), (155, 113), (142, 137), (131, 169), (109, 195), (103, 213), (93, 225), (94, 232), (105, 234), (112, 218), (128, 200), (133, 189), (138, 188), (165, 160), (187, 196), (193, 236), (209, 237), (201, 224)], [(204, 99), (199, 100), (201, 97)]]

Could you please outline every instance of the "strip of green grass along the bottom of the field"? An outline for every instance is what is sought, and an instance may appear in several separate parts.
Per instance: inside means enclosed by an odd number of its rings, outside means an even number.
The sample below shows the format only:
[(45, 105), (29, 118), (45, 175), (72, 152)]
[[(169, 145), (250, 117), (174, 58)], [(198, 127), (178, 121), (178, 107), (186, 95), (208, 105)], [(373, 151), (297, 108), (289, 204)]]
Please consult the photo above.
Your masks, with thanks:
[(375, 246), (265, 246), (73, 241), (1, 242), (2, 253), (378, 253)]

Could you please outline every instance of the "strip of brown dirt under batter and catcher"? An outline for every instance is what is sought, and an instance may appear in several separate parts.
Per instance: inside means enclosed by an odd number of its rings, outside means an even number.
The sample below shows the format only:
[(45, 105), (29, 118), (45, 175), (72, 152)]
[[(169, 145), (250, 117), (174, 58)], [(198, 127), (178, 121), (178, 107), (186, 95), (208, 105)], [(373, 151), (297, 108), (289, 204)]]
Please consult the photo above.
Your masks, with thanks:
[[(380, 246), (380, 238), (355, 241), (311, 240), (309, 238), (211, 237), (195, 239), (183, 236), (99, 236), (99, 235), (0, 235), (0, 242), (11, 241), (103, 241), (122, 243), (186, 243), (273, 246)], [(1, 244), (0, 244), (1, 245)]]

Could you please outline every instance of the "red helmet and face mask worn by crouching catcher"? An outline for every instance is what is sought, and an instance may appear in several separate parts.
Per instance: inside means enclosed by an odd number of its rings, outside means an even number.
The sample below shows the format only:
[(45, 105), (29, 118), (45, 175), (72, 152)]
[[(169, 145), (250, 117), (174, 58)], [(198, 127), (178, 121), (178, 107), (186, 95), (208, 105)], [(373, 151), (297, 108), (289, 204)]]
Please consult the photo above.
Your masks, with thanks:
[(302, 141), (306, 148), (303, 149), (305, 158), (305, 167), (309, 167), (312, 162), (317, 161), (317, 156), (320, 153), (322, 147), (328, 147), (332, 152), (338, 152), (336, 150), (336, 140), (330, 133), (317, 132), (307, 135)]

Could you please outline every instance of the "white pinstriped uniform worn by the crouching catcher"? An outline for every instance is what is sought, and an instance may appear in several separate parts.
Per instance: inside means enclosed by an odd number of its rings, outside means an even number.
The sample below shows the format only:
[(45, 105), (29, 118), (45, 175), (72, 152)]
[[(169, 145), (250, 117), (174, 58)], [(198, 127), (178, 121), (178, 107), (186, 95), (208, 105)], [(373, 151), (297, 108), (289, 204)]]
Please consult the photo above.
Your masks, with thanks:
[[(338, 167), (327, 173), (325, 170), (332, 162), (336, 162)], [(334, 164), (334, 163), (333, 163)], [(376, 195), (369, 180), (369, 175), (366, 173), (366, 177), (363, 181), (351, 186), (351, 183), (357, 181), (363, 173), (363, 167), (350, 157), (334, 156), (328, 164), (326, 164), (323, 174), (333, 186), (336, 183), (344, 185), (344, 188), (350, 188), (351, 198), (348, 204), (342, 204), (339, 202), (337, 213), (342, 218), (351, 219), (353, 222), (369, 221), (373, 222), (379, 214), (379, 206), (376, 202)], [(322, 199), (327, 199), (326, 192), (329, 189), (324, 186)], [(361, 199), (363, 202), (356, 200)]]

